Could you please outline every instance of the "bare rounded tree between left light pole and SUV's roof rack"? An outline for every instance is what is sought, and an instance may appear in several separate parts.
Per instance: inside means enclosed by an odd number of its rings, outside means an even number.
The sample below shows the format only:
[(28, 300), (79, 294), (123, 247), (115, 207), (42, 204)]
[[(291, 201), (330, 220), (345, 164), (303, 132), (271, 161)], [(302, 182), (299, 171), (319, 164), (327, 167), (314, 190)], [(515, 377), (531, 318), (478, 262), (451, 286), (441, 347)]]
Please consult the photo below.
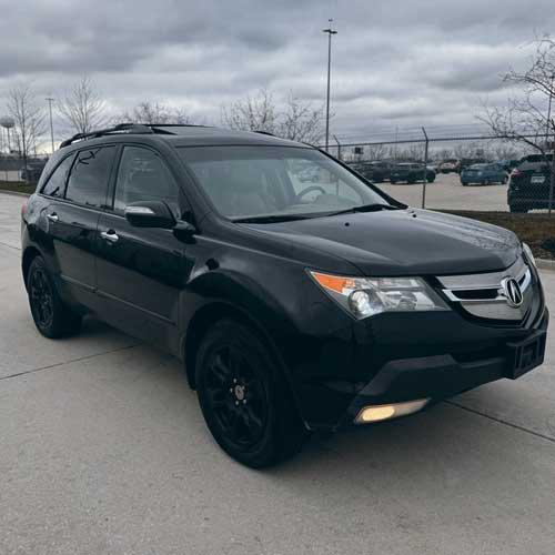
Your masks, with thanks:
[(89, 133), (107, 122), (105, 102), (88, 75), (83, 75), (61, 97), (58, 111), (77, 133)]

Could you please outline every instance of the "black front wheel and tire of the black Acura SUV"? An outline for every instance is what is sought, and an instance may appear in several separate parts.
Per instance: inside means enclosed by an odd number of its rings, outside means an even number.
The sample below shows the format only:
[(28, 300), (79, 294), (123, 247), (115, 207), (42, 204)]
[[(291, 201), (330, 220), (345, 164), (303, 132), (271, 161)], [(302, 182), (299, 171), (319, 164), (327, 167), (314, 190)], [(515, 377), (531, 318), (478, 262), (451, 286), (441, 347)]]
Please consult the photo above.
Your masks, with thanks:
[(307, 436), (283, 373), (259, 335), (221, 320), (196, 355), (196, 391), (220, 447), (251, 468), (296, 454)]

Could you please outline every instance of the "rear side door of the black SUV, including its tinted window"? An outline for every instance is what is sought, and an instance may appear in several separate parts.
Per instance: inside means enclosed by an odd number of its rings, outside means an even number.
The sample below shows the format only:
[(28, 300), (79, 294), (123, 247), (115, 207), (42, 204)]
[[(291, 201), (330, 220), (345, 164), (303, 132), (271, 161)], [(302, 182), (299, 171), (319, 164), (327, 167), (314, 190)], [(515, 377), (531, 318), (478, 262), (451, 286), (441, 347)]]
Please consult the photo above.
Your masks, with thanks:
[[(73, 296), (88, 305), (95, 287), (97, 226), (114, 158), (112, 145), (80, 150), (71, 162), (65, 159), (60, 164), (60, 174), (54, 173), (54, 182), (51, 178), (44, 188), (44, 193), (52, 198), (46, 218), (59, 275)], [(62, 176), (65, 178), (70, 163), (64, 183)], [(63, 194), (56, 196), (63, 185)]]

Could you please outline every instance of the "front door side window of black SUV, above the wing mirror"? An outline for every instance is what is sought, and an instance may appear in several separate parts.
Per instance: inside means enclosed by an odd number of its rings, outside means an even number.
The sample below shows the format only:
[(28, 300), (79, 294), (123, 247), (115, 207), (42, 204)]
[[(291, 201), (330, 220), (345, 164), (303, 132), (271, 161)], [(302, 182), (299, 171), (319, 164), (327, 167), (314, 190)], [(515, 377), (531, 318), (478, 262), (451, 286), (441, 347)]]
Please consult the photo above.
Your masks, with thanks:
[(179, 186), (162, 159), (141, 147), (125, 147), (115, 184), (114, 210), (140, 201), (164, 201), (180, 218)]

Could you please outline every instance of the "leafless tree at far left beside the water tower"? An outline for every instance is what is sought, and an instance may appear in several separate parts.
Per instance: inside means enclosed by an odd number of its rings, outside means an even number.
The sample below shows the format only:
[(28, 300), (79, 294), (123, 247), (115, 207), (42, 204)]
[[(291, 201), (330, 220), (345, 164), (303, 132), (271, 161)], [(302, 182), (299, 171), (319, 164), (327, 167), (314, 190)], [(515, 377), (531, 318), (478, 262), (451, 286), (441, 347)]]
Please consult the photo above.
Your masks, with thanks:
[(37, 152), (39, 138), (44, 132), (44, 113), (30, 84), (19, 84), (8, 92), (8, 113), (16, 123), (13, 139), (27, 168), (31, 152)]

